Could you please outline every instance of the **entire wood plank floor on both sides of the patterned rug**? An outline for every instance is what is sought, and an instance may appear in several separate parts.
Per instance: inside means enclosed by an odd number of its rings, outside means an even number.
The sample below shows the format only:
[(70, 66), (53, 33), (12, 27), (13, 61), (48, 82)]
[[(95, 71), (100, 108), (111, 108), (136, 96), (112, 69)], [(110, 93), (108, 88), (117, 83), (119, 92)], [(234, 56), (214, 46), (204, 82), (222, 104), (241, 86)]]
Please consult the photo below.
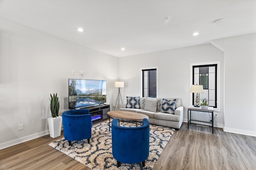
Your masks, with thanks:
[[(0, 170), (90, 170), (48, 144), (49, 135), (0, 150)], [(153, 170), (256, 170), (256, 137), (183, 123)]]

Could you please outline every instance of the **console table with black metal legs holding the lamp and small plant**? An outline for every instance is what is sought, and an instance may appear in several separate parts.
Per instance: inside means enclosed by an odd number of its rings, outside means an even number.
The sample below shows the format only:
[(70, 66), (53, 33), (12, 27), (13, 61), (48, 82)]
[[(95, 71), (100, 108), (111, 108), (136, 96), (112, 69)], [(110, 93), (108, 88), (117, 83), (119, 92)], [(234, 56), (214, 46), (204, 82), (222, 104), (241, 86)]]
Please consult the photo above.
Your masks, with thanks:
[[(193, 120), (193, 119), (191, 119), (191, 111), (202, 111), (202, 112), (212, 113), (211, 127), (212, 127), (212, 134), (213, 134), (213, 121), (214, 121), (214, 119), (213, 119), (213, 112), (214, 112), (213, 107), (208, 107), (208, 109), (202, 109), (201, 107), (188, 106), (188, 129), (189, 129), (189, 124), (191, 124), (191, 121), (198, 121), (198, 122), (209, 123), (207, 121), (200, 121), (200, 120)], [(189, 112), (190, 112), (190, 114), (189, 114)], [(189, 115), (190, 115), (190, 117), (189, 117)], [(193, 123), (193, 124), (203, 125), (203, 124), (199, 124), (199, 123)]]

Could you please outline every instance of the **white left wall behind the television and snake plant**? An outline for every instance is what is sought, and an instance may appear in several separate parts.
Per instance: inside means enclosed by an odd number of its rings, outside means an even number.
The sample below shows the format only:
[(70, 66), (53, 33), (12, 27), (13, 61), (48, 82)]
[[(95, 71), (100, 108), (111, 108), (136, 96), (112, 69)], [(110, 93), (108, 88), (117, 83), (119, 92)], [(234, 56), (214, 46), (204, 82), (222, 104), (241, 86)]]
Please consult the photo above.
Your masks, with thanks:
[(57, 92), (60, 113), (68, 109), (71, 70), (76, 78), (107, 80), (112, 104), (117, 65), (117, 57), (0, 20), (0, 149), (48, 134), (48, 98)]

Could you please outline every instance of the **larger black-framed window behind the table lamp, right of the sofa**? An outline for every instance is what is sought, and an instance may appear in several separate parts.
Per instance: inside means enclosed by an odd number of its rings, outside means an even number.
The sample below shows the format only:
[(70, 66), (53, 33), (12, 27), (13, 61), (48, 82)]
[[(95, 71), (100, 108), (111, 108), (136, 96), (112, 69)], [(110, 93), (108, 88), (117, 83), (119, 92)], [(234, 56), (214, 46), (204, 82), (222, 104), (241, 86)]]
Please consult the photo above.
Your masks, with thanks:
[[(192, 84), (203, 85), (204, 93), (199, 94), (199, 104), (203, 99), (208, 100), (209, 106), (217, 108), (217, 64), (192, 66)], [(192, 94), (192, 104), (196, 102)]]

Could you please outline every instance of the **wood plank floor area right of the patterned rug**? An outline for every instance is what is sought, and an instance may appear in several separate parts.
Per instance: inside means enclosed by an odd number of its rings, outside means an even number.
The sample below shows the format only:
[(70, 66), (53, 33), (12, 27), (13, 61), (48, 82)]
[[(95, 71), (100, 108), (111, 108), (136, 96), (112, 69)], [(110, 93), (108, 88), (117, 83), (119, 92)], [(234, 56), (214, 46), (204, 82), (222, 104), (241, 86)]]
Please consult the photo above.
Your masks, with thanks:
[(256, 137), (183, 123), (153, 170), (256, 170)]

